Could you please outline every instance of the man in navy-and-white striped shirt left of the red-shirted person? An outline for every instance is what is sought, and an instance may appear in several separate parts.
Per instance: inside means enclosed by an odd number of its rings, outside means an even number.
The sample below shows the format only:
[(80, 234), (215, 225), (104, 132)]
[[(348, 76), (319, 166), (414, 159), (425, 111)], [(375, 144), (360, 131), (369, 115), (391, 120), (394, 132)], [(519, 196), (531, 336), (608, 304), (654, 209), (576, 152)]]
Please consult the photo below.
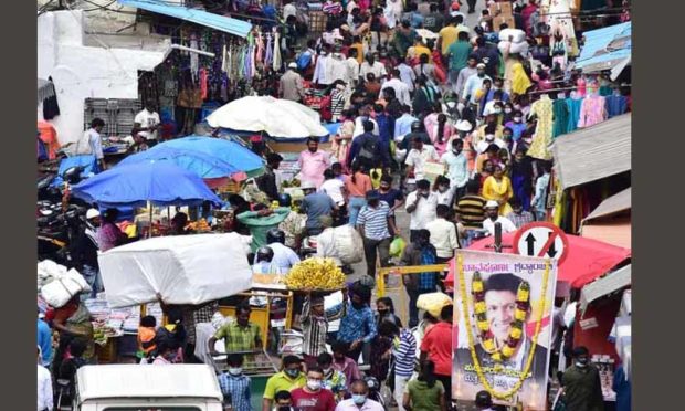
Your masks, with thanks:
[[(378, 334), (392, 340), (392, 348), (386, 356), (394, 357), (394, 400), (398, 411), (404, 411), (402, 396), (404, 387), (414, 373), (414, 360), (417, 358), (417, 339), (409, 329), (400, 329), (392, 322), (382, 322), (378, 327)], [(384, 359), (384, 358), (383, 358)]]

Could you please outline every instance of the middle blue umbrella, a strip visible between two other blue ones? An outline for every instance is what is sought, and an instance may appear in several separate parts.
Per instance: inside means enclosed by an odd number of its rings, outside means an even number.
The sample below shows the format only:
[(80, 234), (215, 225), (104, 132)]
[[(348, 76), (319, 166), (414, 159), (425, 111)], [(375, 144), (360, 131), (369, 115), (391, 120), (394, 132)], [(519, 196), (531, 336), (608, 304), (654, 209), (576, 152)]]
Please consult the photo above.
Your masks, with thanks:
[(130, 166), (138, 162), (149, 162), (150, 160), (168, 160), (180, 168), (192, 171), (202, 178), (229, 177), (240, 169), (223, 161), (221, 158), (208, 155), (198, 150), (179, 149), (162, 147), (157, 145), (149, 150), (140, 151), (123, 159), (119, 166)]

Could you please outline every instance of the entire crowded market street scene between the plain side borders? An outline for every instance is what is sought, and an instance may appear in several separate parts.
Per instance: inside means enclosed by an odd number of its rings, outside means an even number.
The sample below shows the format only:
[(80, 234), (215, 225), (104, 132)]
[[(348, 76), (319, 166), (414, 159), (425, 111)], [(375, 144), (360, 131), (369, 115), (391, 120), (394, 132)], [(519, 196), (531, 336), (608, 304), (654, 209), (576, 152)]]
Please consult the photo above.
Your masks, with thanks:
[(38, 410), (631, 410), (629, 0), (38, 1)]

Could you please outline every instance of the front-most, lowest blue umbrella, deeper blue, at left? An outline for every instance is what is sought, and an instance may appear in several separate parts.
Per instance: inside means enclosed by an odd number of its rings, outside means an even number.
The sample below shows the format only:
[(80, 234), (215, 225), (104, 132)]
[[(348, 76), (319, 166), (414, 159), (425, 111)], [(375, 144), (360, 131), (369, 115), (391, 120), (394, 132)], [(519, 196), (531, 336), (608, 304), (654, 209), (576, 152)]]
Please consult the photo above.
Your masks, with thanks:
[(99, 207), (199, 205), (221, 200), (192, 171), (170, 161), (115, 167), (72, 188), (74, 196)]

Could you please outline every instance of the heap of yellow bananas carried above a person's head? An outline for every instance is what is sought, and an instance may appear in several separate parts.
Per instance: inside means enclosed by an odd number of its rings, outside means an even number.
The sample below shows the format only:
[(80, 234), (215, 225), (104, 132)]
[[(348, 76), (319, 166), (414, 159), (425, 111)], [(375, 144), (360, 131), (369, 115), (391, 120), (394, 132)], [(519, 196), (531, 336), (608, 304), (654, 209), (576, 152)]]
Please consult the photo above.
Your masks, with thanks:
[(336, 291), (345, 287), (345, 274), (331, 259), (307, 259), (295, 264), (285, 284), (296, 291)]

